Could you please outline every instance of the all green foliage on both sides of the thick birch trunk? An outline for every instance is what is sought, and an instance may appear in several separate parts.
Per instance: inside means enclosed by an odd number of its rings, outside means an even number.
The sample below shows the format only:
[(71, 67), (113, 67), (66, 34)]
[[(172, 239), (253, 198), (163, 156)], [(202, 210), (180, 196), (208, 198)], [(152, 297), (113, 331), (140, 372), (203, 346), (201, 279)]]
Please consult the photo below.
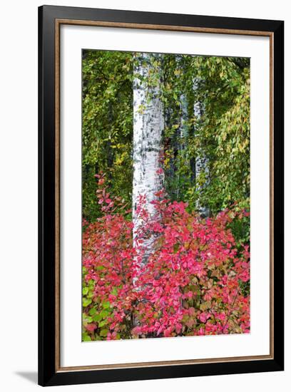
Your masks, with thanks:
[[(97, 172), (106, 174), (111, 191), (131, 207), (133, 63), (140, 55), (83, 51), (83, 217), (89, 222), (100, 216)], [(174, 54), (154, 58), (163, 81), (153, 71), (147, 83), (160, 83), (164, 103), (168, 195), (188, 202), (189, 210), (207, 206), (210, 215), (234, 203), (249, 210), (249, 59)], [(200, 105), (200, 115), (195, 105)], [(201, 157), (207, 165), (196, 175), (195, 163)]]

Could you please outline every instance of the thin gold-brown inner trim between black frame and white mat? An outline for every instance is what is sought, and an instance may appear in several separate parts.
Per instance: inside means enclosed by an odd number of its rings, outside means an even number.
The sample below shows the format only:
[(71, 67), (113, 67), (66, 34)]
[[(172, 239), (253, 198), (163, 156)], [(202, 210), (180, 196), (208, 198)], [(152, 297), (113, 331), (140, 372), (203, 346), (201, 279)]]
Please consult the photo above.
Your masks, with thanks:
[[(151, 361), (138, 363), (113, 363), (96, 366), (70, 366), (61, 367), (61, 341), (60, 341), (60, 30), (62, 24), (70, 24), (77, 26), (102, 26), (112, 28), (126, 29), (149, 29), (160, 31), (188, 31), (194, 33), (219, 33), (219, 34), (235, 34), (245, 36), (267, 36), (270, 38), (270, 354), (261, 356), (234, 356), (224, 358), (210, 359), (188, 359), (177, 361)], [(274, 184), (274, 121), (273, 121), (273, 58), (274, 58), (274, 33), (272, 31), (251, 31), (237, 29), (210, 29), (206, 27), (190, 27), (190, 26), (168, 26), (156, 24), (133, 24), (111, 21), (83, 21), (77, 19), (56, 19), (55, 20), (55, 203), (56, 203), (56, 279), (55, 279), (55, 363), (56, 372), (63, 371), (89, 371), (89, 370), (106, 370), (118, 368), (142, 368), (153, 366), (179, 366), (190, 365), (195, 363), (221, 363), (221, 362), (238, 362), (238, 361), (260, 361), (274, 358), (274, 249), (273, 249), (273, 184)]]

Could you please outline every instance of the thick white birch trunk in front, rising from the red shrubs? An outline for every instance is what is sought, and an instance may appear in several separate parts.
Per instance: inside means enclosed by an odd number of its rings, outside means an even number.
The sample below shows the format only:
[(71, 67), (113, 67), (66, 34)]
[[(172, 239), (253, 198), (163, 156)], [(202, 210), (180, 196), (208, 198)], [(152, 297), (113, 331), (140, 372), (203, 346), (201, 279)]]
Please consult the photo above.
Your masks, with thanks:
[[(134, 62), (133, 80), (133, 246), (142, 252), (146, 264), (155, 237), (144, 233), (143, 217), (138, 213), (140, 198), (148, 218), (158, 219), (156, 193), (163, 189), (161, 138), (164, 128), (163, 103), (160, 98), (160, 58), (156, 54), (138, 53)], [(142, 238), (141, 238), (142, 237)], [(138, 239), (143, 239), (140, 244)]]

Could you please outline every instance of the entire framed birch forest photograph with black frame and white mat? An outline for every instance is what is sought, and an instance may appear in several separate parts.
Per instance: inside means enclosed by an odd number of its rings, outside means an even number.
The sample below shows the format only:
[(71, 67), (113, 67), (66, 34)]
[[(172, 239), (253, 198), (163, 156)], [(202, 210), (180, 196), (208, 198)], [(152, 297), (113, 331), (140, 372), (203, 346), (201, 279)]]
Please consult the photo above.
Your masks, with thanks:
[(39, 8), (39, 384), (283, 370), (282, 21)]

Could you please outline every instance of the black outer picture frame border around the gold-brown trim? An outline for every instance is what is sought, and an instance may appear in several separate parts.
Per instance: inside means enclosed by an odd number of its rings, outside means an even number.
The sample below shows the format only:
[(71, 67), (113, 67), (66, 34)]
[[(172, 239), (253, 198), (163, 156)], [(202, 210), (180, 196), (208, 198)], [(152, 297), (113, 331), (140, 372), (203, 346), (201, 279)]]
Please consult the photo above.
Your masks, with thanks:
[[(166, 366), (123, 367), (58, 371), (56, 347), (56, 279), (55, 264), (58, 232), (56, 229), (56, 20), (113, 22), (158, 26), (188, 26), (213, 31), (268, 32), (272, 36), (272, 211), (273, 254), (272, 304), (273, 351), (269, 359), (220, 361), (215, 363), (175, 364)], [(41, 386), (74, 383), (103, 383), (208, 376), (227, 373), (282, 371), (284, 369), (283, 303), (283, 111), (284, 111), (284, 22), (160, 14), (140, 11), (86, 9), (63, 6), (39, 7), (39, 384)]]

